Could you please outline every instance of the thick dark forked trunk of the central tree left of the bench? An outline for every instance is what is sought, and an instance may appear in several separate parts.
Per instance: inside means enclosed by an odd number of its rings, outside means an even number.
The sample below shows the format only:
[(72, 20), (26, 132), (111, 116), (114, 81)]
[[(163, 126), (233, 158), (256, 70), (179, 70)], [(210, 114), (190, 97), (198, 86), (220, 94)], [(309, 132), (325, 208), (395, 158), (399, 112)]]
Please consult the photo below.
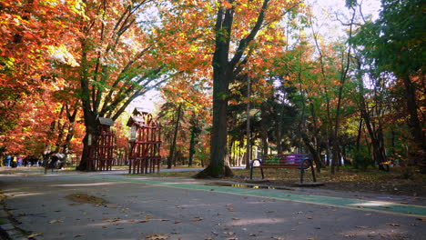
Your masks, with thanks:
[[(232, 4), (234, 1), (230, 1)], [(196, 177), (222, 177), (233, 175), (228, 163), (228, 91), (229, 83), (234, 80), (234, 71), (240, 63), (249, 43), (258, 34), (269, 5), (264, 0), (256, 24), (249, 35), (237, 43), (235, 55), (229, 61), (229, 47), (234, 21), (234, 8), (218, 6), (215, 25), (215, 52), (213, 54), (213, 128), (210, 139), (210, 164)], [(243, 67), (243, 65), (238, 65)]]

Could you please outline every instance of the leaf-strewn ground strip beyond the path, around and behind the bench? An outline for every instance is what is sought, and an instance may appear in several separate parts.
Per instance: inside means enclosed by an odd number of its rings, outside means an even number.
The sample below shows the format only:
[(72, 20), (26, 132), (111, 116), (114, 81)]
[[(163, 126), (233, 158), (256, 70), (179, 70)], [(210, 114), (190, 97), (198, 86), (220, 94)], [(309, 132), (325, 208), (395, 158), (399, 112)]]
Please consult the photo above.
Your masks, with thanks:
[[(296, 169), (265, 169), (265, 179), (260, 181), (260, 170), (255, 169), (253, 179), (249, 181), (249, 170), (233, 170), (235, 176), (226, 178), (228, 181), (250, 182), (263, 185), (292, 186), (299, 181), (299, 172)], [(160, 177), (190, 177), (194, 172), (159, 173), (152, 176)], [(322, 189), (340, 191), (359, 191), (365, 193), (426, 196), (426, 175), (421, 175), (413, 169), (393, 167), (390, 172), (381, 172), (377, 169), (359, 170), (340, 168), (336, 175), (330, 174), (329, 169), (322, 169), (316, 173), (317, 180), (324, 183)], [(306, 181), (312, 181), (308, 172)]]

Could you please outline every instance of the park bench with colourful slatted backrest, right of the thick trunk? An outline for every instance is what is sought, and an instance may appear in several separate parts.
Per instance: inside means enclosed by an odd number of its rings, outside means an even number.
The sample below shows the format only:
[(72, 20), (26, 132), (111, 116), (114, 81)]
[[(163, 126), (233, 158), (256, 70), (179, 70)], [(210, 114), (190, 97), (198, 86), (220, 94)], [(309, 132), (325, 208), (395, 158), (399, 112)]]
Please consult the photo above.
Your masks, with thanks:
[(250, 179), (253, 179), (253, 168), (259, 167), (262, 179), (265, 178), (263, 168), (297, 168), (300, 171), (300, 183), (303, 183), (305, 169), (310, 167), (312, 179), (317, 182), (312, 158), (307, 154), (268, 155), (266, 158), (250, 160)]

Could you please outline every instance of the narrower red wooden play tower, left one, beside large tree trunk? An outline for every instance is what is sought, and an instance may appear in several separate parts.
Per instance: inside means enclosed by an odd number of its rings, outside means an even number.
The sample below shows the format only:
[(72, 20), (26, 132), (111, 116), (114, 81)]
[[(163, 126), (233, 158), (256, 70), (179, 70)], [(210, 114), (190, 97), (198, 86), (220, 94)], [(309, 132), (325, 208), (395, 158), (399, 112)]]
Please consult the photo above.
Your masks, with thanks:
[(116, 135), (111, 131), (114, 122), (110, 118), (99, 117), (98, 135), (89, 135), (89, 155), (87, 170), (110, 171), (113, 165), (113, 154), (116, 147)]

